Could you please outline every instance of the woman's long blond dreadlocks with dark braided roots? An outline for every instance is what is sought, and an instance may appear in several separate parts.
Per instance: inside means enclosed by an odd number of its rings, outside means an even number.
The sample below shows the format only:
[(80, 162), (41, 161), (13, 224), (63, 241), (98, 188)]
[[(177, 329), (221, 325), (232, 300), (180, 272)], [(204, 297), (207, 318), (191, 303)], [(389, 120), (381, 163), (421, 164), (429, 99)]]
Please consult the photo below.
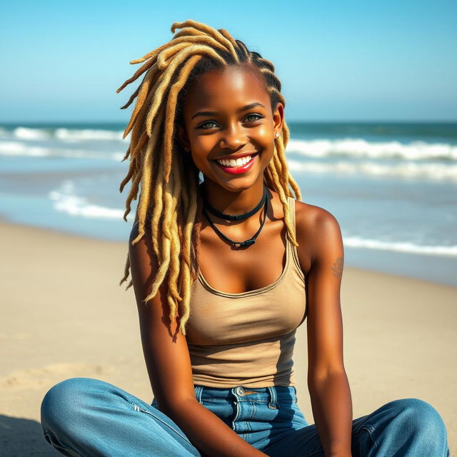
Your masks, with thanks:
[[(181, 31), (176, 32), (176, 29)], [(177, 138), (177, 128), (182, 122), (181, 106), (189, 84), (211, 69), (227, 65), (251, 64), (260, 71), (270, 95), (271, 108), (281, 102), (281, 82), (274, 74), (273, 64), (224, 29), (213, 29), (206, 24), (187, 20), (174, 22), (171, 41), (149, 52), (131, 64), (143, 64), (135, 74), (117, 90), (144, 77), (126, 109), (136, 99), (124, 139), (131, 132), (131, 141), (124, 159), (130, 157), (129, 171), (121, 182), (120, 191), (131, 181), (126, 199), (126, 216), (131, 211), (131, 201), (136, 200), (141, 183), (135, 221), (139, 222), (136, 244), (142, 236), (151, 236), (154, 255), (159, 268), (151, 282), (151, 292), (144, 298), (146, 304), (156, 296), (159, 286), (167, 281), (169, 318), (179, 321), (179, 330), (186, 335), (189, 320), (189, 302), (192, 283), (199, 276), (199, 243), (202, 220), (202, 199), (199, 192), (199, 169), (190, 154), (185, 154)], [(182, 125), (182, 124), (181, 124)], [(301, 192), (288, 172), (284, 150), (289, 139), (286, 121), (280, 136), (275, 139), (273, 159), (263, 172), (268, 189), (279, 194), (284, 212), (287, 236), (298, 246), (288, 209), (287, 197), (301, 199)], [(130, 259), (119, 285), (129, 278)], [(130, 280), (126, 290), (133, 284)]]

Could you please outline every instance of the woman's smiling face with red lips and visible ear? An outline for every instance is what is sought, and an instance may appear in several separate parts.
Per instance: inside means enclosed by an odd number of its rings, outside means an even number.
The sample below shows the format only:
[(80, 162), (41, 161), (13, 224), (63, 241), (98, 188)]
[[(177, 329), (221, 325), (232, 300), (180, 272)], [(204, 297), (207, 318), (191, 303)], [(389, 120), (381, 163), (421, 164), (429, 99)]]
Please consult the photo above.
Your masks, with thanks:
[[(261, 75), (248, 65), (208, 71), (189, 88), (184, 101), (184, 125), (179, 139), (190, 152), (205, 181), (231, 191), (263, 182), (271, 161), (275, 132), (283, 123), (281, 103), (271, 102)], [(251, 156), (248, 164), (221, 166), (217, 159)], [(246, 159), (243, 159), (246, 161)]]

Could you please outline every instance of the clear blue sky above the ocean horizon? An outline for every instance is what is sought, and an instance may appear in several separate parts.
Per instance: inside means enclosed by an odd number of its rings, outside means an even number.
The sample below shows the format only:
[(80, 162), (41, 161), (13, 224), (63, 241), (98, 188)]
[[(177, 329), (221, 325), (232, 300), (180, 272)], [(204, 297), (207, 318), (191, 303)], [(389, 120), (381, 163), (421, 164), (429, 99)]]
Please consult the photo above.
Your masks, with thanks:
[(273, 61), (288, 121), (457, 121), (457, 1), (9, 1), (0, 122), (125, 121), (129, 61), (174, 21)]

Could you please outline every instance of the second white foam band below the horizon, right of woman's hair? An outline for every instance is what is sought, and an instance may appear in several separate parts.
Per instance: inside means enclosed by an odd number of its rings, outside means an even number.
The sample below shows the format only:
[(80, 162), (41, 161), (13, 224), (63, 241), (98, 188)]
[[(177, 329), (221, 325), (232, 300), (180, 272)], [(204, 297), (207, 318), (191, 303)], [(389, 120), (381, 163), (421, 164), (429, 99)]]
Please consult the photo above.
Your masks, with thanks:
[(298, 162), (288, 160), (291, 171), (330, 174), (361, 174), (368, 176), (393, 176), (397, 178), (433, 179), (438, 181), (457, 181), (457, 165), (431, 162), (418, 164), (406, 162), (396, 165), (376, 162), (338, 161), (333, 164), (318, 161)]

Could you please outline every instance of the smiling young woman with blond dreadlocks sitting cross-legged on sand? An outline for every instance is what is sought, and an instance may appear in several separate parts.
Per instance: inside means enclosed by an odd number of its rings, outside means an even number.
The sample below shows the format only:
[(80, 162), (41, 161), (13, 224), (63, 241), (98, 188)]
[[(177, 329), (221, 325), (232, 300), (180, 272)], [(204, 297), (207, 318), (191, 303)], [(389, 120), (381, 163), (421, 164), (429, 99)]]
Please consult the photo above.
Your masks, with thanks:
[[(121, 283), (131, 271), (155, 398), (62, 381), (41, 406), (47, 441), (67, 456), (448, 456), (417, 398), (352, 419), (341, 232), (299, 201), (273, 64), (224, 29), (175, 29), (119, 89), (144, 74), (126, 104), (126, 214), (141, 192)], [(315, 425), (292, 362), (306, 317)]]

